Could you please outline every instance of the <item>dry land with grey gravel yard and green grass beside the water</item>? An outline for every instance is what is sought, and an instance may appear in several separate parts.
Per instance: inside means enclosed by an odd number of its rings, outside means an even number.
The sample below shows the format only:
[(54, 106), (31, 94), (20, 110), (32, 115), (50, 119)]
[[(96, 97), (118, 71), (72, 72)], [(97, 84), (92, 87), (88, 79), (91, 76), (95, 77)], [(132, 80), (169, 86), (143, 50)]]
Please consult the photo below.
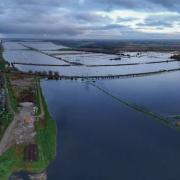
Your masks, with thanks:
[(46, 179), (44, 171), (56, 152), (56, 126), (39, 80), (26, 75), (6, 76), (7, 105), (14, 118), (0, 140), (0, 179), (8, 179), (16, 171), (41, 173), (31, 179)]

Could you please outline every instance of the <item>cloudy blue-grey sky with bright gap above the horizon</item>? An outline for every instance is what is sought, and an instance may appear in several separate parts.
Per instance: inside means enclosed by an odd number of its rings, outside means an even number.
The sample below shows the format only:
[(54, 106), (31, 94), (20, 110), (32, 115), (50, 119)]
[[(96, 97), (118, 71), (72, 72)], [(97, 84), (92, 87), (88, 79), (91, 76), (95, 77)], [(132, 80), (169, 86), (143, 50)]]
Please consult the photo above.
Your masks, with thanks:
[(0, 0), (0, 37), (180, 39), (180, 0)]

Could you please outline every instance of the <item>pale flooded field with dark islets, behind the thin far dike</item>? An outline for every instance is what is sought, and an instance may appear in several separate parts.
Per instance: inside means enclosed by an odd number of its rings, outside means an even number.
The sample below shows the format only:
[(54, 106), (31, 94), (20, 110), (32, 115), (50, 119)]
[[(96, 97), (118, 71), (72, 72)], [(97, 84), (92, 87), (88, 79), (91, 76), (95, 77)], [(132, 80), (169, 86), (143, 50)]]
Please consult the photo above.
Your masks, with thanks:
[[(80, 52), (79, 52), (80, 53)], [(126, 56), (126, 55), (129, 56)], [(171, 56), (170, 53), (124, 53), (122, 55), (108, 55), (101, 53), (89, 53), (89, 54), (60, 54), (56, 57), (61, 57), (68, 61), (78, 61), (85, 65), (118, 65), (118, 64), (133, 64), (133, 63), (149, 63), (159, 62), (162, 60), (168, 60)]]

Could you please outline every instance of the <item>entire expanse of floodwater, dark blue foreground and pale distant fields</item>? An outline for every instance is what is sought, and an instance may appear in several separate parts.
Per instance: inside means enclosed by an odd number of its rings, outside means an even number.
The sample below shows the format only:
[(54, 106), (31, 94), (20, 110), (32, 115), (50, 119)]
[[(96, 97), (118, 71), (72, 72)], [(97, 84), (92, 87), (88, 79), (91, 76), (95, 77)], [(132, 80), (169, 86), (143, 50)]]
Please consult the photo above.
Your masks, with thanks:
[[(40, 50), (53, 50), (52, 59), (38, 54), (42, 63), (56, 59), (56, 46), (31, 45)], [(12, 59), (15, 46), (6, 47), (5, 57)], [(48, 47), (49, 48), (48, 48)], [(24, 48), (24, 46), (22, 46)], [(20, 44), (17, 53), (27, 52)], [(64, 48), (58, 47), (58, 48)], [(56, 50), (56, 51), (55, 51)], [(29, 50), (28, 50), (29, 51)], [(8, 53), (11, 52), (11, 53)], [(49, 51), (49, 54), (53, 54)], [(30, 61), (29, 51), (23, 62)], [(72, 54), (76, 55), (72, 55)], [(62, 51), (63, 58), (68, 61), (80, 61), (83, 64), (108, 64), (111, 55), (81, 55)], [(58, 55), (60, 56), (60, 55)], [(105, 56), (105, 57), (104, 57)], [(124, 58), (116, 63), (154, 62), (168, 60), (170, 53), (146, 53), (141, 58), (136, 56)], [(14, 55), (13, 55), (14, 57)], [(29, 57), (29, 58), (28, 58)], [(40, 58), (42, 57), (42, 58)], [(96, 58), (95, 58), (96, 57)], [(74, 59), (73, 59), (74, 58)], [(113, 63), (115, 63), (113, 61)], [(146, 66), (146, 67), (145, 67)], [(62, 67), (61, 72), (71, 74), (104, 74), (131, 73), (134, 71), (160, 70), (162, 68), (179, 68), (178, 62), (165, 64), (142, 64), (128, 67), (96, 67), (82, 70), (81, 66)], [(20, 66), (19, 66), (20, 67)], [(28, 71), (29, 66), (21, 66)], [(47, 68), (34, 67), (31, 68)], [(50, 67), (52, 68), (52, 67)], [(64, 68), (65, 69), (65, 68)], [(147, 114), (135, 111), (123, 105), (117, 99), (158, 113), (164, 117), (180, 114), (180, 72), (157, 74), (147, 77), (88, 81), (47, 81), (41, 86), (49, 111), (57, 124), (57, 155), (47, 169), (49, 180), (179, 180), (180, 179), (180, 131), (165, 126)], [(94, 83), (95, 86), (92, 85)], [(99, 87), (99, 88), (97, 88)], [(108, 93), (104, 93), (100, 89)], [(112, 95), (112, 96), (111, 96)], [(116, 97), (116, 98), (113, 98)], [(47, 142), (48, 143), (48, 142)], [(20, 176), (24, 175), (22, 173)], [(26, 174), (27, 175), (27, 174)], [(24, 176), (23, 176), (24, 177)], [(25, 177), (23, 179), (26, 179)]]

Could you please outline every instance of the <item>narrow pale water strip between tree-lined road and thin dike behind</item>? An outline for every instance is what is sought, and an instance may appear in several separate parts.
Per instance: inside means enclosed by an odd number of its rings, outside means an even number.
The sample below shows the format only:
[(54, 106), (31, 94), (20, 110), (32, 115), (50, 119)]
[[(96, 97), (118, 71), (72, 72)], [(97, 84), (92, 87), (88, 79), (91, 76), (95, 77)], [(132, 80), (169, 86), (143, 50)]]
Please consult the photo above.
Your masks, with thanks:
[(162, 64), (142, 64), (132, 66), (108, 66), (108, 67), (86, 67), (86, 66), (66, 66), (66, 67), (52, 67), (52, 66), (26, 66), (16, 65), (21, 71), (55, 71), (60, 75), (65, 76), (108, 76), (108, 75), (127, 75), (134, 73), (154, 72), (159, 70), (171, 70), (180, 68), (179, 62), (162, 63)]

